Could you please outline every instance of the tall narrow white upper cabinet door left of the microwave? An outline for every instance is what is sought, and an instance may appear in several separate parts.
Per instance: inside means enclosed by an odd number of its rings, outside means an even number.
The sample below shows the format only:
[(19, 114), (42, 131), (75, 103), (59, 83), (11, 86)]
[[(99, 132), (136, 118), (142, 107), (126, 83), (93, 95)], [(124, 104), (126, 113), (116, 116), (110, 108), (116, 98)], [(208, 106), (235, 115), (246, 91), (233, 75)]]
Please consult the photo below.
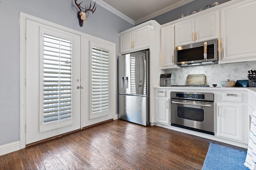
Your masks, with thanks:
[(161, 64), (162, 66), (172, 66), (174, 61), (174, 25), (169, 25), (161, 29)]

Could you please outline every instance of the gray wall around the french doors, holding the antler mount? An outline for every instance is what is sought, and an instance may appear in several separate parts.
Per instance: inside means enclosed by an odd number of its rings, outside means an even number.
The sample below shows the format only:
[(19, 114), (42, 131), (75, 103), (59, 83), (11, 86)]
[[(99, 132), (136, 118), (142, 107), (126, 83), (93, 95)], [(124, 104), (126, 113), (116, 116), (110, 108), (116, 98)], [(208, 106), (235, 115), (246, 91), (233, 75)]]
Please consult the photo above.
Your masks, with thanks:
[(100, 5), (80, 27), (74, 0), (0, 0), (0, 146), (20, 140), (20, 12), (116, 43), (116, 55), (118, 33), (133, 27)]

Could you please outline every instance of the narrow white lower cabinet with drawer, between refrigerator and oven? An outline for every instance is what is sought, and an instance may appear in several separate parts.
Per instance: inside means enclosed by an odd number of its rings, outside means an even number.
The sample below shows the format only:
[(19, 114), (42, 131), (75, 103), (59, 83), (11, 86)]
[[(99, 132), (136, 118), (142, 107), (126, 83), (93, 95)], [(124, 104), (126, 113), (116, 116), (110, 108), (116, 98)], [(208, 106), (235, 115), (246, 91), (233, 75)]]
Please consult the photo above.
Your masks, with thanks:
[(170, 125), (169, 98), (166, 97), (166, 90), (155, 89), (155, 96), (156, 122)]

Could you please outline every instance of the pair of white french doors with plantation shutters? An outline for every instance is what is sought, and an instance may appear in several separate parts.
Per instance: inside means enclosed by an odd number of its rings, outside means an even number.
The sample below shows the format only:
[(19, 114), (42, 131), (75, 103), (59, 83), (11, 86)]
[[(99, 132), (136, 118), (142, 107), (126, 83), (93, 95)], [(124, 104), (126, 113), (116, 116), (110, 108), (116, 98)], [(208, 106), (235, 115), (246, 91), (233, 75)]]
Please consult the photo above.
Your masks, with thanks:
[(117, 119), (115, 44), (44, 20), (27, 18), (24, 25), (22, 143)]

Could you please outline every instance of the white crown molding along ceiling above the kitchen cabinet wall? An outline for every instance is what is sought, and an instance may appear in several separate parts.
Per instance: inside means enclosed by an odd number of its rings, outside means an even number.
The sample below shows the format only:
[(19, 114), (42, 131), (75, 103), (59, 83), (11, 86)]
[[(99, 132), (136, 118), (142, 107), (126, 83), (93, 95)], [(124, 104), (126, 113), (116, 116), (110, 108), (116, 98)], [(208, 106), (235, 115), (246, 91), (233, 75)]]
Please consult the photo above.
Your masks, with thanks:
[(162, 10), (154, 12), (154, 13), (152, 13), (152, 14), (150, 14), (148, 16), (145, 16), (145, 17), (143, 17), (143, 18), (141, 18), (139, 20), (136, 20), (135, 21), (135, 25), (137, 25), (139, 23), (142, 23), (144, 21), (148, 21), (148, 20), (150, 20), (150, 19), (152, 19), (152, 18), (154, 18), (156, 16), (160, 16), (161, 14), (164, 14), (166, 12), (174, 10), (175, 8), (178, 8), (180, 6), (188, 4), (188, 3), (192, 2), (192, 1), (194, 1), (194, 0), (180, 0), (179, 2), (177, 2), (177, 3), (173, 4), (173, 5), (167, 6), (166, 8), (163, 8)]

